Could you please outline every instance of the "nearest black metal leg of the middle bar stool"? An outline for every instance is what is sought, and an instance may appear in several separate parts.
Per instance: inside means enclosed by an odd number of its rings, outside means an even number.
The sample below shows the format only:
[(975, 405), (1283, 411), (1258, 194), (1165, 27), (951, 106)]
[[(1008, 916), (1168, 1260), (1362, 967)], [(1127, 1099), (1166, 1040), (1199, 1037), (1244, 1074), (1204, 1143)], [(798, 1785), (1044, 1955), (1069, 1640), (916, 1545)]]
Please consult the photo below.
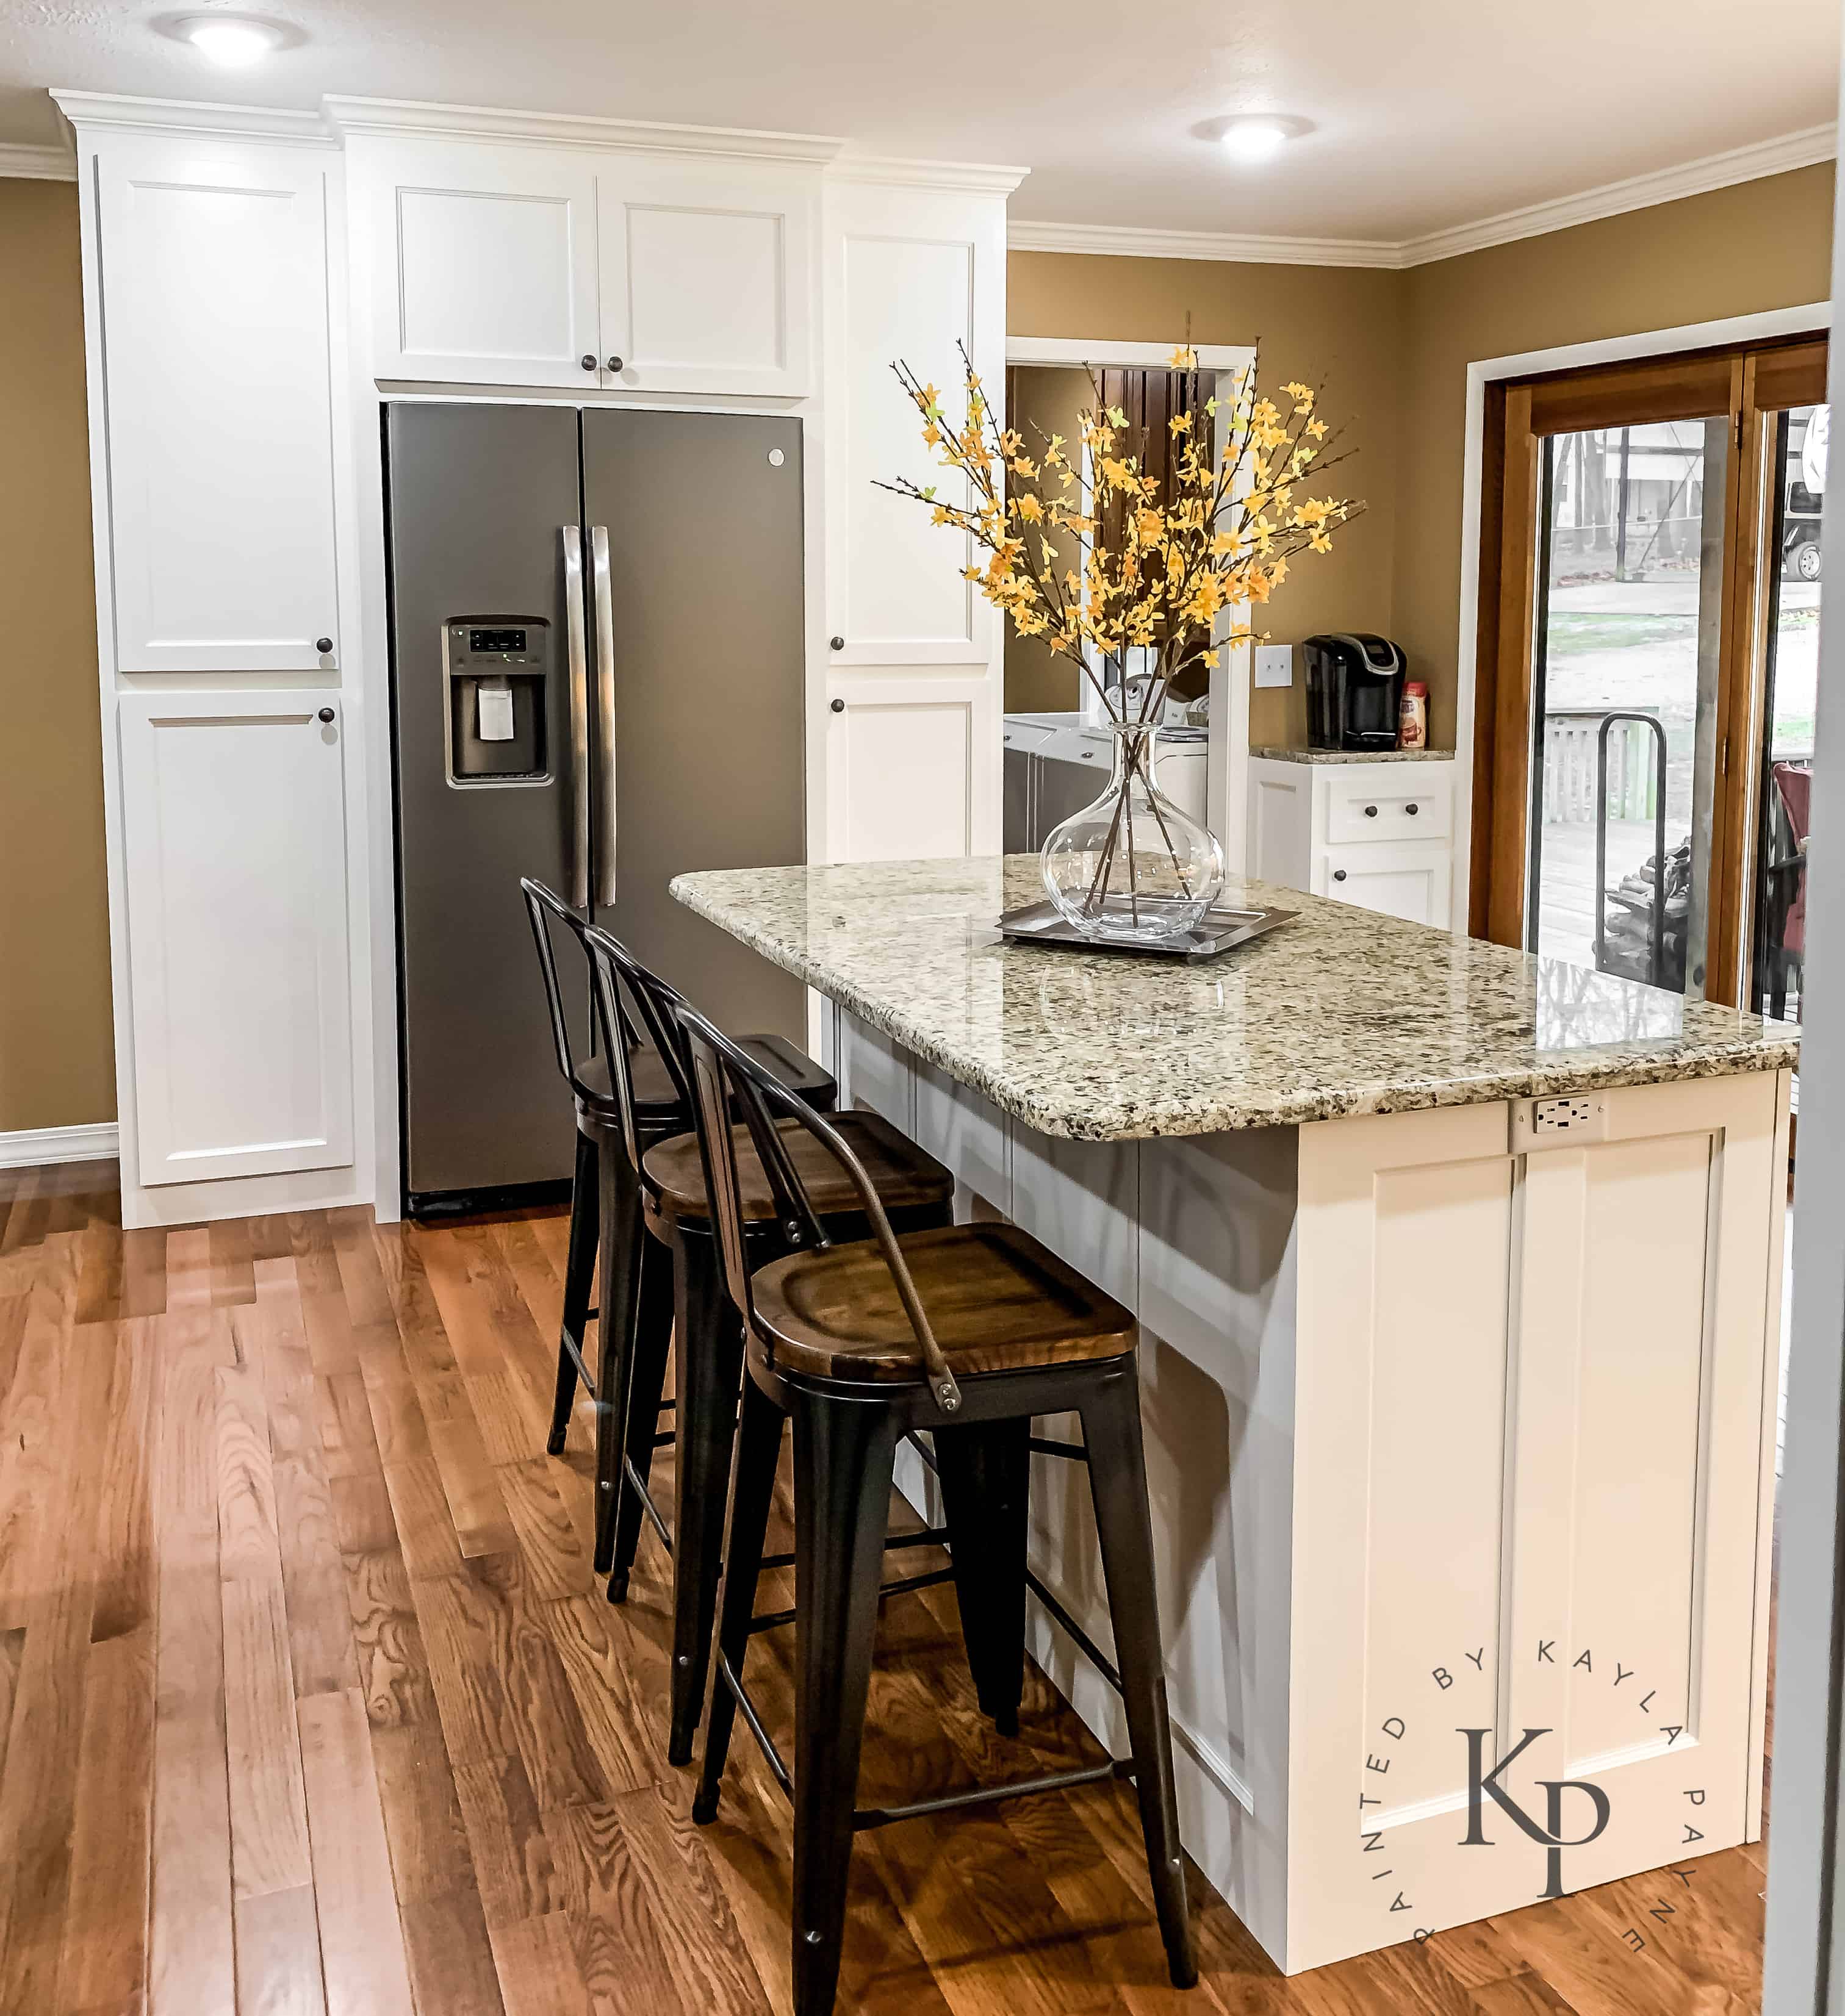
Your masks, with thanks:
[(690, 1764), (712, 1663), (724, 1490), (744, 1375), (742, 1325), (708, 1232), (682, 1232), (673, 1248), (673, 1335), (680, 1341), (680, 1403), (673, 1415), (673, 1663), (665, 1758)]

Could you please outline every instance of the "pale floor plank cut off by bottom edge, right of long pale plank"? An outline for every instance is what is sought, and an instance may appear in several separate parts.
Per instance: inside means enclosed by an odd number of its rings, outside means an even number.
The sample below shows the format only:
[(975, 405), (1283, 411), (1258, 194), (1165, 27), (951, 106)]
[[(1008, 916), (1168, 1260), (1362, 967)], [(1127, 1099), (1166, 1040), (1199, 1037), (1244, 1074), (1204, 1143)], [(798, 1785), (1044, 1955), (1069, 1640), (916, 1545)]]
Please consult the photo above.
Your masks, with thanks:
[(411, 2016), (409, 1960), (391, 1889), (391, 1849), (355, 1687), (300, 1702), (327, 2016)]

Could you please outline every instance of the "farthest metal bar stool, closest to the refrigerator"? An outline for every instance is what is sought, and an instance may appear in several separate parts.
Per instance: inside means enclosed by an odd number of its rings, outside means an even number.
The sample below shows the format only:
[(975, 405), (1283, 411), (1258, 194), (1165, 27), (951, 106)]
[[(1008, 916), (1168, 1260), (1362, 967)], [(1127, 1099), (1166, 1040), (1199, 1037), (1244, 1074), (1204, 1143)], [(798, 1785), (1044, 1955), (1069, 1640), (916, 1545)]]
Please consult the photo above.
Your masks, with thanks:
[[(621, 1375), (633, 1351), (633, 1333), (641, 1320), (643, 1298), (649, 1320), (663, 1327), (671, 1320), (669, 1304), (661, 1294), (665, 1276), (659, 1268), (655, 1282), (643, 1282), (643, 1238), (641, 1238), (641, 1191), (633, 1169), (637, 1157), (667, 1141), (692, 1125), (688, 1095), (682, 1091), (684, 1075), (675, 1075), (657, 1050), (645, 1048), (633, 1026), (619, 1014), (613, 1022), (603, 1018), (603, 1002), (595, 998), (591, 984), (593, 964), (585, 931), (585, 921), (544, 883), (522, 879), (520, 891), (526, 901), (526, 915), (532, 923), (532, 941), (538, 948), (538, 972), (544, 980), (544, 1000), (550, 1008), (550, 1038), (557, 1046), (557, 1068), (571, 1087), (577, 1107), (577, 1163), (571, 1177), (571, 1240), (565, 1252), (565, 1310), (557, 1339), (557, 1399), (550, 1409), (550, 1439), (546, 1447), (561, 1456), (565, 1435), (571, 1425), (571, 1409), (577, 1403), (577, 1381), (595, 1395), (597, 1450), (595, 1450), (595, 1570), (609, 1572), (615, 1554), (615, 1504), (617, 1480), (625, 1456), (625, 1409), (621, 1399)], [(565, 996), (559, 986), (557, 952), (552, 946), (552, 925), (561, 925), (577, 941), (583, 956), (583, 990), (591, 996), (593, 1054), (579, 1056), (571, 1042), (571, 1026), (565, 1016)], [(678, 1036), (673, 1038), (678, 1046)], [(831, 1107), (837, 1097), (833, 1075), (823, 1070), (811, 1056), (796, 1050), (782, 1036), (740, 1036), (738, 1042), (772, 1077), (780, 1079), (796, 1097), (817, 1107)], [(625, 1083), (633, 1095), (635, 1149), (629, 1153), (623, 1133), (621, 1101), (609, 1058), (615, 1050), (627, 1060)], [(591, 1284), (595, 1280), (597, 1250), (603, 1252), (603, 1294), (601, 1308), (591, 1308)], [(599, 1322), (597, 1369), (591, 1373), (583, 1357), (583, 1331), (591, 1316)], [(611, 1349), (613, 1343), (613, 1349)], [(661, 1343), (661, 1353), (665, 1345)], [(667, 1403), (669, 1405), (669, 1403)], [(663, 1411), (663, 1409), (661, 1409)], [(655, 1423), (647, 1423), (651, 1443)]]

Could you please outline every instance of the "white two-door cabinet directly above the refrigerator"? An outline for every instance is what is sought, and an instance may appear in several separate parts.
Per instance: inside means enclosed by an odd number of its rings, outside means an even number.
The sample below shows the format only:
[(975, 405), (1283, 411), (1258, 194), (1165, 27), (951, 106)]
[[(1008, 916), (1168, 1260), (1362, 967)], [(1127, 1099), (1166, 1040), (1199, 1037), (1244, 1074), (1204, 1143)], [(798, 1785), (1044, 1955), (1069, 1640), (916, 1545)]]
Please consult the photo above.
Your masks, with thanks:
[(811, 389), (819, 165), (367, 133), (349, 153), (377, 377)]

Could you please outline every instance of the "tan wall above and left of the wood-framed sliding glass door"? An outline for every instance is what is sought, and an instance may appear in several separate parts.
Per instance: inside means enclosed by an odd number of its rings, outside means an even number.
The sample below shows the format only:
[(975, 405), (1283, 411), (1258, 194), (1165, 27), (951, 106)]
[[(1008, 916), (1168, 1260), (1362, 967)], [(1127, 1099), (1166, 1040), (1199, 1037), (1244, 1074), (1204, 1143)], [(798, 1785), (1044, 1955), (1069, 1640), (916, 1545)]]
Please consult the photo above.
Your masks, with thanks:
[(1401, 274), (1393, 635), (1454, 742), (1468, 365), (1831, 296), (1833, 165), (1688, 196)]

